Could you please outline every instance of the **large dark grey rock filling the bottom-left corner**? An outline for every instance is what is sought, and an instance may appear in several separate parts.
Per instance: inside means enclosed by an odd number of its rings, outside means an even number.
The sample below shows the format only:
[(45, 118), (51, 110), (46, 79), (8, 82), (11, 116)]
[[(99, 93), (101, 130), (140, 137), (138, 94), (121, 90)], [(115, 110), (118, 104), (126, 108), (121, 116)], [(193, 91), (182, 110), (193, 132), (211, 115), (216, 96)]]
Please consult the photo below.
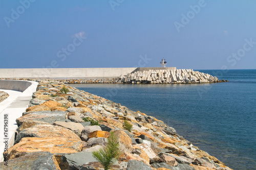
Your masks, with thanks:
[(8, 166), (6, 166), (4, 163), (5, 162), (0, 163), (0, 169), (59, 169), (59, 165), (56, 162), (54, 155), (50, 152), (28, 153), (24, 156), (8, 160)]

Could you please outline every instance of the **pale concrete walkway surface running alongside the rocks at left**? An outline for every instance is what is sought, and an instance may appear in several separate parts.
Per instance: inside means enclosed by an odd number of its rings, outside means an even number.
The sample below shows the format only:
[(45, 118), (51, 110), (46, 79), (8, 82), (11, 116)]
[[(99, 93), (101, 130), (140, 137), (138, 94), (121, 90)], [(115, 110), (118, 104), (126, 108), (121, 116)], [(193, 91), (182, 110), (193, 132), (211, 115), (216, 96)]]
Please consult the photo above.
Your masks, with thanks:
[[(22, 116), (22, 113), (28, 108), (29, 102), (32, 99), (32, 94), (36, 91), (37, 82), (31, 82), (32, 85), (25, 91), (15, 91), (0, 89), (9, 94), (8, 98), (0, 103), (0, 162), (4, 161), (3, 152), (6, 147), (5, 141), (8, 141), (8, 148), (14, 143), (15, 131), (17, 129), (16, 118)], [(5, 122), (5, 117), (8, 117), (8, 123)], [(8, 127), (4, 127), (7, 123)], [(8, 136), (5, 136), (8, 134)]]

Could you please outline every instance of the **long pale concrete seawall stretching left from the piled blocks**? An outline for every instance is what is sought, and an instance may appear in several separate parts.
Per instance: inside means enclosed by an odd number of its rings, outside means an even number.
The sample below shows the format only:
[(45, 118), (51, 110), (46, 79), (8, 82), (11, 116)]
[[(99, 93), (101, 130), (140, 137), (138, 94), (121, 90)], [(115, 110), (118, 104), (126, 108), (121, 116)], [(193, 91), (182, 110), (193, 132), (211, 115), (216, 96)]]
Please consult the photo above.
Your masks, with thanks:
[(2, 68), (0, 78), (84, 79), (115, 78), (127, 75), (136, 67), (127, 68)]

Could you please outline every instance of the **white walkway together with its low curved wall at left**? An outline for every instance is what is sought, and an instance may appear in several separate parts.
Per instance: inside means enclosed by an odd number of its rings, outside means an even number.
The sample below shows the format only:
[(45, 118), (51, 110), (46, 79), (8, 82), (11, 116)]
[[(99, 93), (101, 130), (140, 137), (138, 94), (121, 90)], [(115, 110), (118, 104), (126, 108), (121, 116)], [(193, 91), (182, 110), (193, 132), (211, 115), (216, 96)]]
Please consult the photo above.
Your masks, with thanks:
[(0, 80), (0, 90), (9, 94), (9, 97), (0, 103), (0, 162), (4, 160), (6, 137), (4, 136), (4, 117), (8, 115), (8, 148), (14, 143), (14, 134), (17, 128), (16, 118), (28, 108), (32, 94), (36, 91), (37, 82), (19, 80)]

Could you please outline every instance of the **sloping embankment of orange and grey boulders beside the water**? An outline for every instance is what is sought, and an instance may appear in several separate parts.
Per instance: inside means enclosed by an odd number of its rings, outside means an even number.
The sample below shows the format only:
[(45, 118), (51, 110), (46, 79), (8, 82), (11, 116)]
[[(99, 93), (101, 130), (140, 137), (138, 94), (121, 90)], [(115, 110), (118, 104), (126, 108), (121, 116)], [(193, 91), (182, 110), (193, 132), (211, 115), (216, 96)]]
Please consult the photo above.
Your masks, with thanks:
[(155, 117), (63, 82), (34, 81), (37, 91), (16, 119), (15, 143), (4, 153), (8, 167), (1, 162), (0, 169), (103, 169), (92, 151), (105, 146), (110, 132), (121, 151), (111, 169), (230, 169)]

